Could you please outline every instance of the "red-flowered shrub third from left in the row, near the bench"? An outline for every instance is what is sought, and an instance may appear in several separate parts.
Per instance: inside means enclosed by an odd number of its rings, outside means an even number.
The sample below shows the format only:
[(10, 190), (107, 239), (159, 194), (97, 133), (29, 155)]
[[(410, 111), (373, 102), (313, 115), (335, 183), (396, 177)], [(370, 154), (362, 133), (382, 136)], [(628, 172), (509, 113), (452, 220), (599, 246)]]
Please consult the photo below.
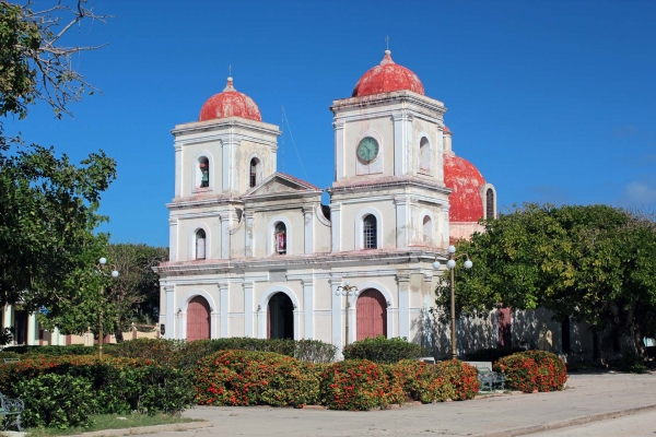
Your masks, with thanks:
[(453, 386), (444, 380), (437, 369), (432, 364), (417, 359), (402, 359), (391, 365), (407, 399), (423, 403), (444, 402), (454, 398)]

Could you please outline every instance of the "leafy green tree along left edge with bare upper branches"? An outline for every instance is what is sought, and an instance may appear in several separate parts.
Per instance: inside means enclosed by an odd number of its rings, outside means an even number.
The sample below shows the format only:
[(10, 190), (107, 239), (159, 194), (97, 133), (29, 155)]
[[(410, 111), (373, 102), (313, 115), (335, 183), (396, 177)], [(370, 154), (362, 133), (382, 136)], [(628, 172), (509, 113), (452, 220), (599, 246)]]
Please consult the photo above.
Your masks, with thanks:
[[(33, 11), (31, 1), (0, 1), (0, 115), (24, 118), (40, 99), (61, 117), (93, 91), (71, 56), (97, 47), (59, 43), (82, 20), (105, 16), (74, 4)], [(103, 151), (75, 166), (52, 147), (8, 139), (0, 125), (0, 305), (56, 310), (93, 288), (80, 281), (93, 279), (92, 255), (106, 251), (107, 236), (94, 232), (106, 220), (97, 214), (101, 193), (115, 177), (116, 162)]]

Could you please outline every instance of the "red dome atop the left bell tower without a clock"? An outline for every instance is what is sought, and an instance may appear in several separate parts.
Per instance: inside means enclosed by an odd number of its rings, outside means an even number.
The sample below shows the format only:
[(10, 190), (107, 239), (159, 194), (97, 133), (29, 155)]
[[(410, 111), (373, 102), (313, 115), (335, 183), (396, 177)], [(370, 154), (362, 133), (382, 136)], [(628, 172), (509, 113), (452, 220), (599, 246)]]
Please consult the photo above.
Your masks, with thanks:
[(253, 98), (234, 88), (232, 78), (227, 78), (227, 85), (222, 93), (214, 94), (202, 105), (198, 121), (224, 117), (242, 117), (262, 121), (257, 104)]

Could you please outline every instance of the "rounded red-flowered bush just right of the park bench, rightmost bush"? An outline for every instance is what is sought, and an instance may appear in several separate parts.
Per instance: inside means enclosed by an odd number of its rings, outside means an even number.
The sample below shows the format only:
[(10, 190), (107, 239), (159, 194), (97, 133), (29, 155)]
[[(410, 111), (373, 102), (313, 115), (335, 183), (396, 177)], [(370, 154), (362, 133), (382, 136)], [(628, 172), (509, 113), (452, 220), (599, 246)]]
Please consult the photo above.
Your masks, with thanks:
[(525, 393), (562, 390), (567, 380), (565, 363), (546, 351), (519, 352), (494, 364), (506, 377), (506, 387)]

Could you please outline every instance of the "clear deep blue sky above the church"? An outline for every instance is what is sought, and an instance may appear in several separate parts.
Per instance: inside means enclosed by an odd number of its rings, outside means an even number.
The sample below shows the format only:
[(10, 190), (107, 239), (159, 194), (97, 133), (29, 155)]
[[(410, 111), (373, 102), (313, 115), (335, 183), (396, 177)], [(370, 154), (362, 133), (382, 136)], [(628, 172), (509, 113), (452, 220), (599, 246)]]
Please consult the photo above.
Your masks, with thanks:
[[(5, 120), (30, 142), (80, 161), (103, 149), (118, 179), (103, 196), (114, 241), (168, 244), (171, 129), (225, 86), (289, 132), (279, 170), (328, 187), (332, 116), (377, 64), (397, 63), (445, 103), (455, 152), (495, 185), (500, 211), (524, 201), (656, 210), (654, 1), (127, 1), (67, 43), (99, 87), (56, 120), (44, 105)], [(288, 131), (286, 127), (284, 129)], [(280, 142), (279, 142), (280, 143)], [(281, 152), (281, 151), (280, 151)]]

